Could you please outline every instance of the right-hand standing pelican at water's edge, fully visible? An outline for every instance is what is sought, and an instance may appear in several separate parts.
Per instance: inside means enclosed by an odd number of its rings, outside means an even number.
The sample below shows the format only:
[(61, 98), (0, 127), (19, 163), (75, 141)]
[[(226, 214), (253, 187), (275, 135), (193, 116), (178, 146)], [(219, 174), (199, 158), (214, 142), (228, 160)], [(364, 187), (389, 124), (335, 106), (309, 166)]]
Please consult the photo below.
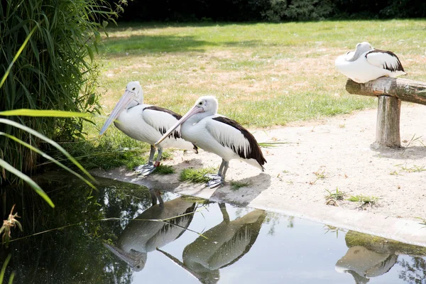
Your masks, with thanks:
[(219, 155), (222, 163), (217, 175), (208, 175), (210, 180), (207, 186), (212, 188), (224, 184), (229, 160), (244, 160), (262, 171), (266, 163), (253, 135), (238, 122), (217, 114), (217, 105), (215, 97), (200, 97), (194, 107), (155, 143), (155, 145), (161, 143), (180, 126), (180, 133), (186, 141)]

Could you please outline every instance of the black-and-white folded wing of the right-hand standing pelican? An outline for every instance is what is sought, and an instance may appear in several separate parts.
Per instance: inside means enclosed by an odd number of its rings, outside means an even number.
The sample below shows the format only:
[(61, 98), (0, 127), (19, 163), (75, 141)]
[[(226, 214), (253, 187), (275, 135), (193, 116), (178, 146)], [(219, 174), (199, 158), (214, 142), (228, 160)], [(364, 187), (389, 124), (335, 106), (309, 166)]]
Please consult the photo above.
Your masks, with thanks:
[(206, 128), (216, 141), (231, 148), (241, 158), (255, 159), (260, 165), (266, 163), (256, 138), (238, 122), (224, 116), (216, 116), (207, 120)]

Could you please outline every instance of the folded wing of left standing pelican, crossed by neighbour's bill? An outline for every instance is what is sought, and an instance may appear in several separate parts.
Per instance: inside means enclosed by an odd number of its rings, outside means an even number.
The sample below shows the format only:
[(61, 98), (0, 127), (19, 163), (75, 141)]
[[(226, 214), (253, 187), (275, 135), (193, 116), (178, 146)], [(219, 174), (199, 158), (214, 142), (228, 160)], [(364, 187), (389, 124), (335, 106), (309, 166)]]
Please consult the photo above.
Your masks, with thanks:
[[(170, 109), (163, 109), (162, 107), (150, 106), (143, 109), (143, 120), (151, 125), (154, 129), (163, 135), (170, 129), (179, 119), (182, 118), (180, 114), (176, 114)], [(181, 138), (180, 128), (170, 134), (170, 138)]]

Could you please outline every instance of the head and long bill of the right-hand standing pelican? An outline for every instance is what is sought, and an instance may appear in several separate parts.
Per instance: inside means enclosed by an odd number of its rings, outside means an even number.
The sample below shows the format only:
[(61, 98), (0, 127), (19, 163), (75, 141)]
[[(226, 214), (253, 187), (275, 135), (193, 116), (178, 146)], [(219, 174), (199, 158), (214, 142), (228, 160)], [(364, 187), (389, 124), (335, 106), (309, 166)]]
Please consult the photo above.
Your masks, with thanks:
[(178, 122), (175, 123), (164, 135), (155, 143), (155, 146), (161, 143), (165, 138), (167, 138), (170, 133), (172, 133), (175, 129), (180, 126), (180, 124), (183, 124), (187, 119), (189, 119), (191, 116), (195, 116), (195, 123), (200, 121), (201, 119), (204, 119), (204, 117), (212, 116), (214, 114), (217, 114), (217, 99), (213, 96), (203, 96), (197, 99), (197, 102), (195, 102), (194, 107), (190, 109), (184, 116), (182, 116), (182, 119), (180, 119)]

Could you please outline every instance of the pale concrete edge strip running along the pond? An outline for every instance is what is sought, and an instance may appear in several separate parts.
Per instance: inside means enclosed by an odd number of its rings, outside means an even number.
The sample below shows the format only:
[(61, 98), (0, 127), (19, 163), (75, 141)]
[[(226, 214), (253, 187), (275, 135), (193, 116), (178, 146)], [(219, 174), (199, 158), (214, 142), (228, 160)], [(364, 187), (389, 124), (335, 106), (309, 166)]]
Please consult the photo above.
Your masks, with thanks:
[(232, 195), (229, 185), (221, 187), (221, 190), (216, 190), (204, 187), (204, 185), (179, 182), (175, 177), (168, 178), (168, 180), (152, 177), (141, 178), (124, 168), (109, 171), (92, 170), (92, 175), (122, 182), (131, 182), (149, 188), (175, 192), (180, 195), (202, 197), (215, 202), (265, 209), (336, 226), (340, 229), (359, 231), (406, 244), (426, 246), (426, 224), (422, 224), (420, 219), (388, 217), (373, 212), (343, 209), (342, 207), (332, 207), (325, 204), (310, 204), (302, 200), (288, 202), (288, 200), (280, 200), (276, 197), (271, 199), (261, 194), (250, 202), (239, 202)]

